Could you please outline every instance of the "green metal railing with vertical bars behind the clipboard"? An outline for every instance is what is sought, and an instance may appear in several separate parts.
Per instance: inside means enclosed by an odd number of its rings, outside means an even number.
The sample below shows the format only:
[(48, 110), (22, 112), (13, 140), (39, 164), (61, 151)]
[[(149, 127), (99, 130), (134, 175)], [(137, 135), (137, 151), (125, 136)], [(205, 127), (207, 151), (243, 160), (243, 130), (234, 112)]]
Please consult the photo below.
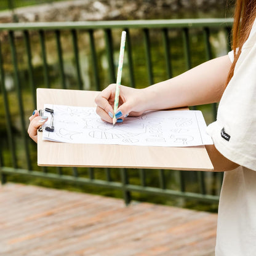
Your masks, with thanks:
[[(6, 129), (2, 131), (0, 146), (0, 174), (1, 182), (5, 183), (9, 175), (20, 175), (31, 177), (48, 178), (63, 182), (82, 183), (86, 185), (104, 186), (106, 188), (116, 189), (123, 192), (126, 204), (132, 199), (132, 193), (151, 193), (165, 196), (178, 196), (182, 198), (198, 199), (201, 201), (217, 202), (218, 193), (207, 193), (206, 174), (204, 172), (185, 172), (175, 171), (178, 175), (177, 188), (172, 189), (169, 182), (169, 176), (173, 170), (129, 170), (129, 169), (104, 169), (105, 178), (97, 178), (98, 170), (93, 168), (73, 168), (52, 167), (39, 168), (36, 166), (36, 158), (31, 156), (36, 150), (35, 145), (26, 134), (28, 127), (28, 116), (30, 116), (33, 108), (36, 108), (36, 88), (38, 82), (35, 81), (36, 70), (42, 69), (41, 84), (43, 87), (55, 87), (53, 83), (53, 68), (49, 61), (49, 38), (55, 41), (54, 54), (58, 70), (58, 81), (62, 89), (88, 89), (83, 79), (84, 70), (81, 68), (81, 38), (86, 35), (86, 50), (89, 56), (89, 73), (90, 84), (92, 90), (102, 90), (104, 85), (116, 81), (116, 62), (114, 61), (116, 44), (119, 44), (119, 38), (114, 38), (113, 34), (121, 30), (127, 31), (126, 46), (126, 63), (124, 63), (124, 71), (126, 72), (126, 82), (137, 87), (138, 75), (137, 69), (134, 68), (134, 41), (137, 42), (140, 49), (143, 49), (143, 61), (145, 65), (145, 79), (147, 85), (155, 82), (154, 71), (158, 63), (153, 61), (152, 42), (158, 39), (164, 56), (165, 72), (164, 77), (158, 79), (172, 78), (177, 73), (174, 66), (174, 58), (172, 55), (172, 41), (179, 35), (183, 44), (183, 70), (193, 67), (191, 52), (191, 37), (199, 33), (204, 46), (201, 54), (204, 60), (215, 57), (212, 53), (212, 44), (210, 38), (212, 33), (223, 31), (226, 38), (230, 35), (232, 19), (198, 19), (198, 20), (134, 20), (134, 21), (104, 21), (104, 22), (53, 22), (53, 23), (6, 23), (0, 25), (0, 78), (1, 78), (1, 94), (0, 103), (4, 109)], [(195, 32), (196, 31), (196, 32)], [(67, 82), (67, 71), (65, 70), (65, 54), (66, 47), (63, 44), (63, 34), (68, 36), (68, 42), (71, 47), (71, 54), (74, 67), (75, 82), (70, 84)], [(153, 36), (152, 36), (153, 34)], [(82, 35), (82, 36), (81, 36)], [(156, 36), (157, 35), (157, 36)], [(142, 37), (140, 37), (142, 36)], [(136, 38), (139, 38), (138, 40)], [(141, 41), (140, 39), (143, 39)], [(41, 66), (37, 68), (33, 64), (34, 41), (38, 42), (36, 47), (41, 52)], [(115, 44), (116, 43), (116, 44)], [(103, 46), (100, 46), (102, 45)], [(98, 47), (102, 47), (99, 50)], [(66, 48), (65, 48), (66, 49)], [(118, 49), (119, 50), (119, 49)], [(227, 40), (225, 51), (230, 50), (229, 41)], [(100, 54), (99, 54), (100, 52)], [(25, 57), (24, 57), (25, 55)], [(99, 55), (103, 55), (102, 60), (106, 60), (108, 77), (102, 78), (102, 68), (98, 63)], [(142, 58), (140, 58), (141, 60)], [(138, 60), (138, 61), (140, 61)], [(159, 61), (159, 60), (158, 60)], [(106, 65), (106, 64), (105, 64)], [(25, 70), (24, 72), (22, 72)], [(162, 70), (161, 70), (162, 71)], [(14, 80), (15, 87), (8, 89), (7, 75)], [(23, 74), (22, 78), (20, 77)], [(143, 73), (144, 74), (144, 73)], [(24, 82), (26, 81), (26, 82)], [(29, 86), (27, 86), (29, 84)], [(59, 86), (58, 86), (59, 88)], [(15, 100), (12, 100), (15, 97)], [(212, 121), (216, 117), (217, 105), (212, 105), (210, 110)], [(18, 126), (17, 126), (18, 122)], [(15, 129), (14, 129), (15, 127)], [(18, 128), (17, 128), (18, 127)], [(133, 182), (131, 175), (138, 175), (138, 182)], [(100, 170), (102, 174), (102, 170)], [(197, 189), (189, 191), (189, 185), (186, 183), (186, 177), (196, 177)], [(113, 178), (114, 174), (114, 178)], [(153, 175), (153, 176), (152, 176)], [(134, 176), (132, 176), (134, 177)], [(208, 177), (209, 178), (209, 177)], [(222, 180), (221, 174), (210, 174), (211, 180)], [(152, 182), (148, 180), (153, 180)], [(157, 182), (156, 182), (157, 180)], [(156, 184), (157, 183), (157, 184)], [(215, 190), (215, 188), (213, 189)]]

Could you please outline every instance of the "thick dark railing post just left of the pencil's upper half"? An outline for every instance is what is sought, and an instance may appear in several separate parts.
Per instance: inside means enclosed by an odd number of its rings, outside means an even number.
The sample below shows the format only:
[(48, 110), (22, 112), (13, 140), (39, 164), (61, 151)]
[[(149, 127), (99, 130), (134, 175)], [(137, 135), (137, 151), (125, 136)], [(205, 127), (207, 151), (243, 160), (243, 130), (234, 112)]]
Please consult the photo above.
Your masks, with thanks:
[(114, 50), (113, 50), (113, 39), (112, 33), (110, 29), (106, 29), (105, 31), (105, 43), (106, 43), (106, 55), (108, 57), (108, 70), (110, 76), (110, 83), (116, 82), (116, 75), (114, 70)]

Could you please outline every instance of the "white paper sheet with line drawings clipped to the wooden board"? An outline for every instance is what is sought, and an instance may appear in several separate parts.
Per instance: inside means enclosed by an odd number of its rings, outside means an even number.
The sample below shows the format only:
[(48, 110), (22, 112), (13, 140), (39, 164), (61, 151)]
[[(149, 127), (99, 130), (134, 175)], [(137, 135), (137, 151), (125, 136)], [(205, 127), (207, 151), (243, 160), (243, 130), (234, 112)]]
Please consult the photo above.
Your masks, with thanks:
[(54, 132), (44, 128), (43, 140), (65, 143), (139, 146), (198, 146), (213, 144), (206, 134), (201, 111), (151, 111), (140, 117), (127, 117), (113, 124), (102, 121), (95, 108), (45, 104), (54, 110)]

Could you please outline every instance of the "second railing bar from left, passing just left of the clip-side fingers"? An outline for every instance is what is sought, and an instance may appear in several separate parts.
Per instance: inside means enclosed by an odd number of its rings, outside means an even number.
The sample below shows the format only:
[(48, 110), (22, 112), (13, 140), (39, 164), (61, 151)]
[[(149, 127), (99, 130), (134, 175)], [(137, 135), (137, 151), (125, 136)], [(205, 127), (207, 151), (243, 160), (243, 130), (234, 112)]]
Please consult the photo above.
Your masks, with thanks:
[(20, 86), (20, 79), (18, 78), (18, 64), (17, 64), (17, 55), (16, 55), (15, 42), (14, 42), (14, 31), (9, 31), (9, 40), (10, 40), (10, 50), (12, 55), (12, 63), (14, 65), (14, 80), (15, 80), (15, 86), (17, 89), (18, 108), (20, 111), (20, 119), (22, 123), (22, 137), (23, 137), (23, 142), (25, 146), (26, 164), (27, 164), (28, 170), (31, 170), (30, 153), (29, 153), (28, 142), (27, 142), (28, 136), (27, 136), (26, 124), (24, 120), (22, 90)]

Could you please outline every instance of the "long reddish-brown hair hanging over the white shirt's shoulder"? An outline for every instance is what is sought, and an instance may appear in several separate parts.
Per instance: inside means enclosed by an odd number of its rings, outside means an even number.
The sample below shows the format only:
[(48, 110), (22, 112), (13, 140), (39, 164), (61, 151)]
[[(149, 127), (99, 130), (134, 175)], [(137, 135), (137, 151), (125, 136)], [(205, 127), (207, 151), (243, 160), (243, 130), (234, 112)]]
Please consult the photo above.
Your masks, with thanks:
[[(242, 45), (246, 42), (255, 20), (256, 0), (237, 0), (234, 10), (234, 23), (232, 30), (232, 49), (234, 50), (234, 62), (231, 65), (230, 73), (226, 84), (234, 74), (234, 67), (241, 54)], [(238, 50), (236, 50), (238, 49)]]

